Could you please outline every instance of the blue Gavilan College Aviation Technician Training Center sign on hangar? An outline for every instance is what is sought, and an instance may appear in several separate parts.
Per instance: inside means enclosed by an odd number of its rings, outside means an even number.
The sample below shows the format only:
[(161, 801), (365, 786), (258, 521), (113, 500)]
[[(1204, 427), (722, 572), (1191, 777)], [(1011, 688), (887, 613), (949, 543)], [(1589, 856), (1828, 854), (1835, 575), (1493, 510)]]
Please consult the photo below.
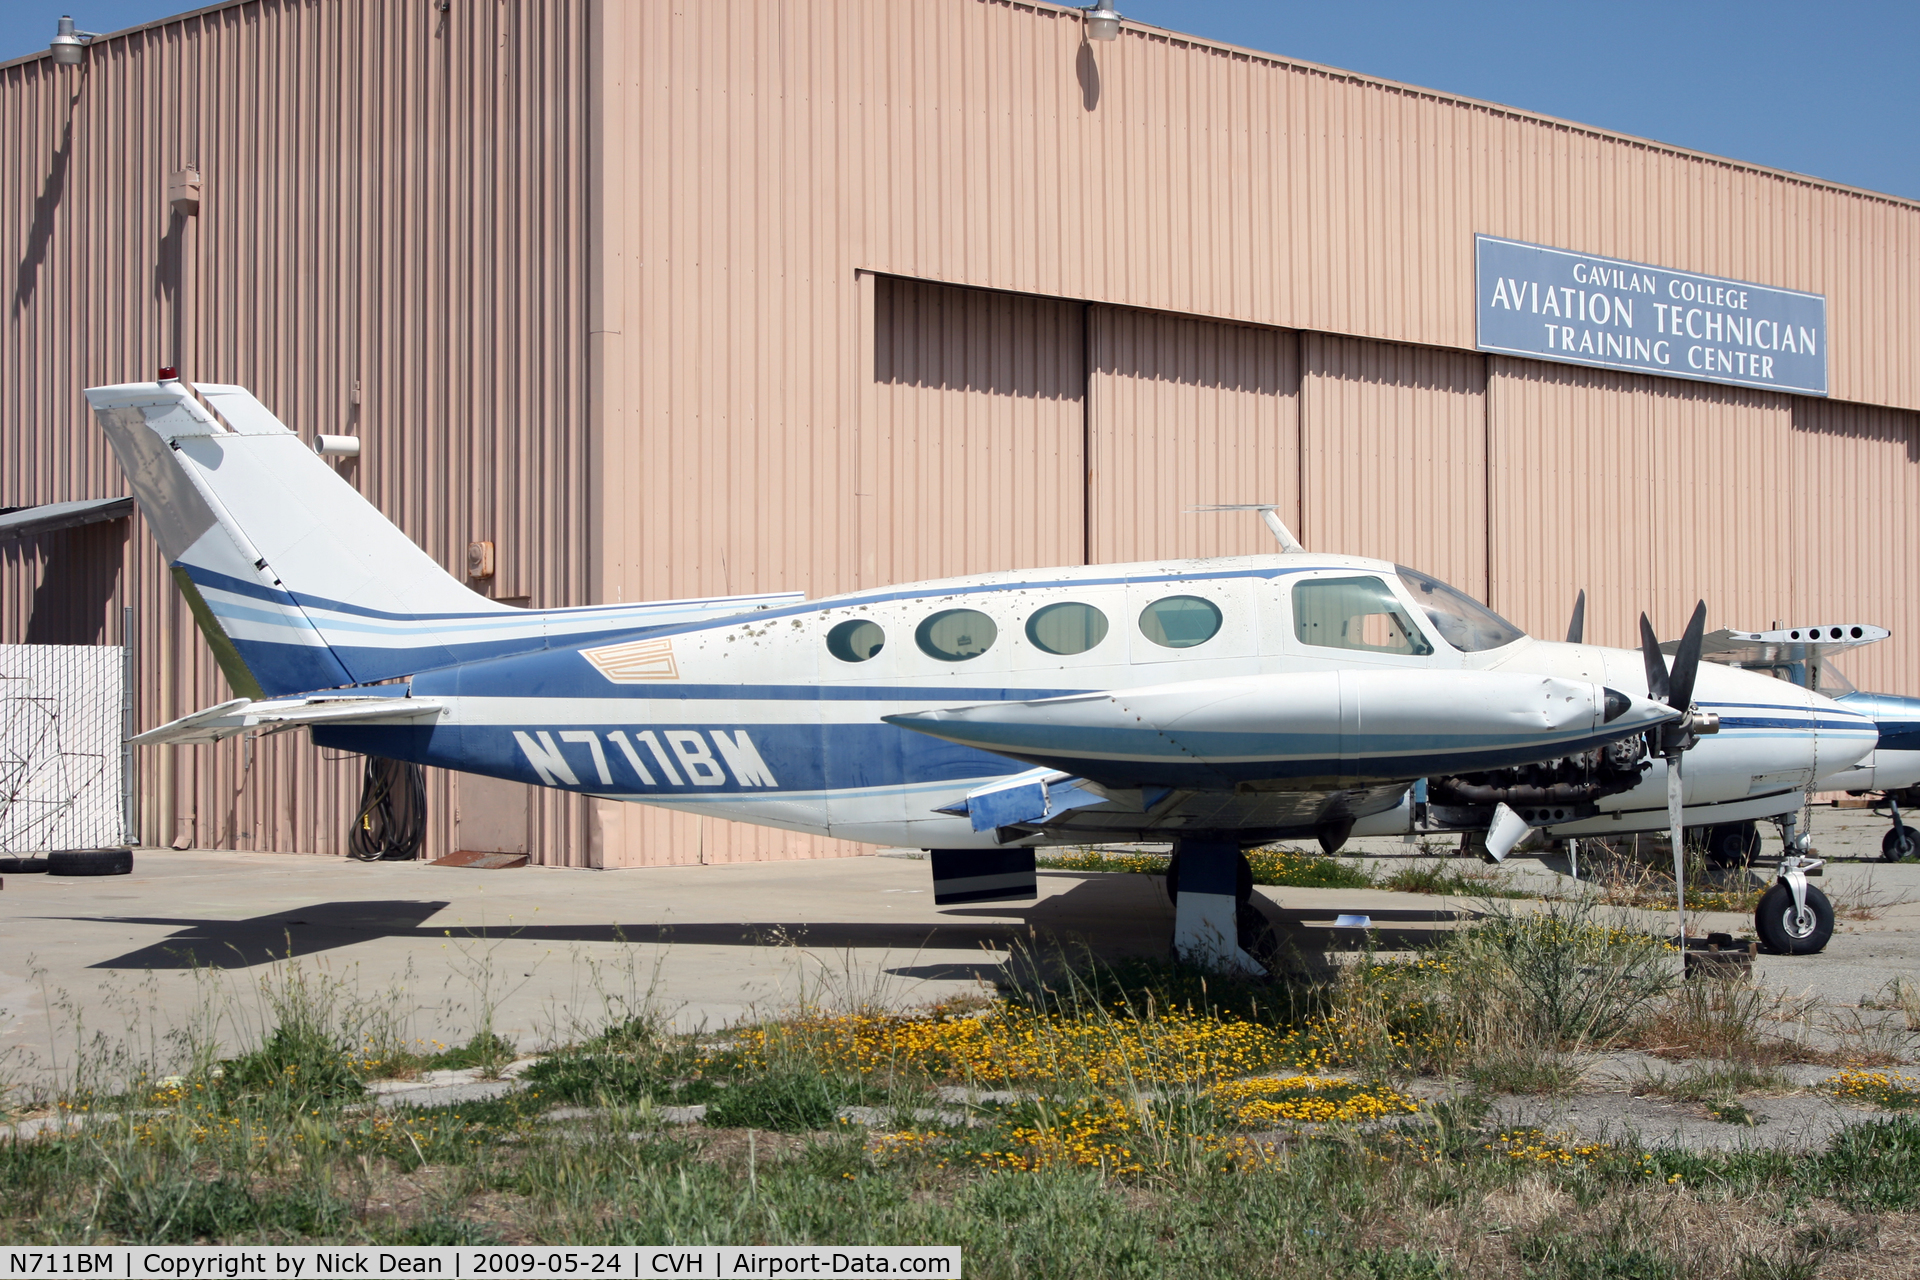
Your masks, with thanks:
[(1826, 297), (1475, 236), (1478, 347), (1826, 395)]

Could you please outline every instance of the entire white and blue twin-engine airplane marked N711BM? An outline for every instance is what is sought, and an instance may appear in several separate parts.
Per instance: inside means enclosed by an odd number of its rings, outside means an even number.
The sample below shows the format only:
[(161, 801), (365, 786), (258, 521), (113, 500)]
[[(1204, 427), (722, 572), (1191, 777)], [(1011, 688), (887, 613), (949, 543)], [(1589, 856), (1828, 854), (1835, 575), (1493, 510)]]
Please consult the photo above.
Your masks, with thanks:
[[(1874, 720), (1768, 676), (1530, 639), (1427, 574), (1304, 551), (977, 574), (828, 599), (478, 597), (236, 386), (86, 391), (230, 702), (140, 735), (326, 747), (933, 850), (937, 900), (1033, 848), (1171, 842), (1175, 944), (1258, 969), (1242, 850), (1791, 821)], [(1644, 628), (1645, 629), (1645, 628)], [(1680, 768), (1686, 752), (1684, 771)], [(1789, 858), (1784, 950), (1832, 912)], [(1811, 865), (1811, 864), (1809, 864)], [(1256, 913), (1258, 919), (1258, 913)]]

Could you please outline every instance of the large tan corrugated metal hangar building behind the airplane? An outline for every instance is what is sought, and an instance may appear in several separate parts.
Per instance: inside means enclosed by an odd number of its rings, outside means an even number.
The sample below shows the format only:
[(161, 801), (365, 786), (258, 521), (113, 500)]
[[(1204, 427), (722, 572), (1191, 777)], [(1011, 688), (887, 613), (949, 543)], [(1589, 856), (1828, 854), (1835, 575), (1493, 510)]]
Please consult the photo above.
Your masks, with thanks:
[[(1123, 8), (1123, 6), (1121, 6)], [(84, 23), (84, 15), (83, 23)], [(48, 33), (52, 35), (52, 33)], [(240, 382), (534, 606), (1308, 547), (1555, 635), (1876, 622), (1920, 693), (1920, 205), (1012, 0), (244, 0), (0, 65), (0, 505), (81, 390)], [(138, 514), (0, 643), (227, 695)], [(338, 852), (303, 735), (140, 760), (150, 844)], [(428, 852), (854, 846), (432, 777)]]

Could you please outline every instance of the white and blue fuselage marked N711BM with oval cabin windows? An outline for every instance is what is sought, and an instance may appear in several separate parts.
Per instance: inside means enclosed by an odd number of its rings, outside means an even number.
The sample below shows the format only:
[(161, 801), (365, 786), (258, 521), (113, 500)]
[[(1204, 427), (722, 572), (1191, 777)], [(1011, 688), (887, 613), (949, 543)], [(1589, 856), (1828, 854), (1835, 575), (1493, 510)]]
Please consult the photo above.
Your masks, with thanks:
[[(1302, 583), (1315, 587), (1302, 595)], [(1517, 631), (1492, 647), (1455, 647), (1432, 601), (1415, 599), (1409, 583), (1382, 560), (1309, 553), (912, 583), (420, 672), (392, 691), (442, 702), (438, 720), (315, 727), (315, 739), (849, 841), (991, 848), (1002, 835), (935, 810), (1027, 766), (883, 716), (1315, 672), (1536, 674), (1647, 695), (1638, 651)], [(1315, 603), (1323, 599), (1361, 603), (1329, 610)], [(1342, 608), (1375, 612), (1340, 620)], [(1878, 739), (1868, 718), (1749, 672), (1703, 666), (1695, 702), (1720, 716), (1720, 731), (1686, 756), (1688, 825), (1789, 812)], [(1444, 720), (1434, 735), (1446, 733)], [(1369, 789), (1350, 760), (1327, 768), (1356, 773), (1344, 800), (1356, 831), (1407, 829), (1404, 785)], [(1655, 760), (1636, 787), (1599, 800), (1597, 818), (1549, 829), (1665, 829), (1665, 768)], [(1340, 785), (1321, 773), (1315, 787)], [(1306, 835), (1325, 819), (1323, 800), (1294, 802), (1284, 787), (1225, 787), (1200, 808), (1217, 812), (1223, 829), (1265, 839)], [(1087, 823), (1029, 842), (1175, 839), (1208, 821), (1190, 802), (1162, 825), (1152, 810), (1092, 808)]]

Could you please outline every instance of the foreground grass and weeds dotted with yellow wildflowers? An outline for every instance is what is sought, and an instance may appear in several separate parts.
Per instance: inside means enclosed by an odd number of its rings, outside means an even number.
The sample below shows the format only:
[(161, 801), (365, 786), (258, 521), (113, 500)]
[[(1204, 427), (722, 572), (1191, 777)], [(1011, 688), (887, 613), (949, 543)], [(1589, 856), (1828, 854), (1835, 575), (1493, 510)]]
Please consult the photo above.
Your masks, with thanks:
[[(119, 1086), (94, 1077), (63, 1098), (94, 1107), (84, 1130), (0, 1146), (0, 1236), (948, 1242), (973, 1276), (1878, 1265), (1880, 1234), (1920, 1209), (1916, 1117), (1857, 1126), (1820, 1155), (1701, 1155), (1496, 1130), (1471, 1086), (1428, 1103), (1411, 1084), (1553, 1086), (1567, 1055), (1649, 1025), (1715, 1015), (1738, 1031), (1747, 1006), (1670, 1013), (1688, 990), (1672, 960), (1592, 904), (1548, 904), (1415, 958), (1352, 958), (1321, 983), (1054, 961), (998, 998), (906, 1013), (814, 1006), (684, 1036), (626, 1011), (555, 1046), (518, 1092), (392, 1109), (365, 1080), (403, 1059), (397, 1031), (369, 1048), (367, 1013), (288, 963), (242, 1052), (192, 1040), (188, 1061)], [(505, 1050), (482, 1031), (451, 1052), (488, 1067)], [(415, 1059), (405, 1069), (453, 1065)], [(150, 1082), (163, 1067), (179, 1071)], [(1747, 1123), (1738, 1096), (1764, 1071), (1686, 1088)], [(1874, 1098), (1893, 1109), (1914, 1086), (1887, 1077)], [(664, 1123), (662, 1107), (691, 1102), (703, 1125)], [(841, 1121), (852, 1105), (883, 1123)]]

